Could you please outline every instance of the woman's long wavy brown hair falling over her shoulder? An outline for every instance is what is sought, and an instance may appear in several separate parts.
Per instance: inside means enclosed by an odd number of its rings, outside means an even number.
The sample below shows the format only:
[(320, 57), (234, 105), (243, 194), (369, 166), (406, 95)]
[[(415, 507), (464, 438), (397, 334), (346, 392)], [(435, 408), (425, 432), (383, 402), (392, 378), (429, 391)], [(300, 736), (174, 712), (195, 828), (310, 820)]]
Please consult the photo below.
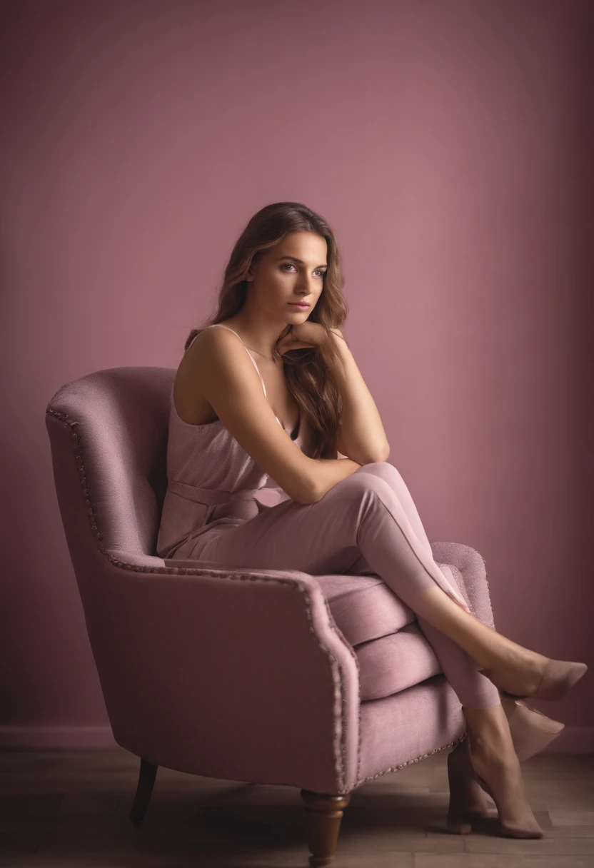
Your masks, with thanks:
[[(267, 251), (293, 232), (314, 232), (327, 241), (327, 272), (320, 298), (307, 318), (323, 325), (328, 339), (321, 346), (303, 347), (283, 354), (287, 386), (306, 423), (307, 454), (312, 458), (336, 458), (336, 434), (339, 427), (341, 398), (333, 377), (339, 353), (330, 334), (347, 319), (347, 302), (342, 294), (344, 275), (340, 253), (332, 229), (320, 214), (300, 202), (274, 202), (261, 208), (235, 242), (219, 290), (218, 309), (201, 328), (192, 329), (184, 345), (203, 328), (234, 317), (246, 300), (245, 279), (252, 265)], [(287, 334), (291, 325), (282, 332)]]

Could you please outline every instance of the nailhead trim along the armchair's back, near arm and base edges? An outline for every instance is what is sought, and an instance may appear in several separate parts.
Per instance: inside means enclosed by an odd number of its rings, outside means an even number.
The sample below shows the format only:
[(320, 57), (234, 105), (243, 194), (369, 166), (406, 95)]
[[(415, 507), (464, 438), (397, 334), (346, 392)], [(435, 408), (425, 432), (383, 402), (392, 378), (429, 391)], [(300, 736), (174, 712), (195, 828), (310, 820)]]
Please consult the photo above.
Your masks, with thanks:
[[(116, 567), (121, 567), (122, 569), (130, 569), (130, 570), (133, 570), (134, 572), (138, 572), (138, 573), (156, 573), (156, 574), (165, 574), (165, 575), (170, 575), (171, 573), (181, 574), (181, 575), (220, 575), (221, 570), (216, 570), (216, 569), (200, 569), (200, 568), (191, 569), (189, 567), (183, 567), (183, 568), (180, 568), (180, 567), (144, 567), (144, 566), (140, 566), (140, 565), (135, 564), (135, 563), (128, 563), (126, 561), (121, 561), (118, 558), (114, 557), (113, 555), (110, 555), (109, 551), (105, 548), (105, 545), (102, 542), (103, 537), (102, 537), (101, 531), (99, 530), (99, 526), (97, 523), (97, 518), (96, 518), (95, 510), (93, 507), (93, 503), (90, 499), (91, 492), (90, 492), (89, 487), (87, 485), (86, 471), (84, 469), (84, 464), (82, 462), (81, 435), (78, 434), (76, 431), (74, 431), (74, 426), (79, 425), (80, 423), (70, 420), (68, 418), (67, 414), (58, 412), (56, 410), (52, 410), (51, 407), (46, 408), (46, 413), (49, 416), (54, 417), (54, 418), (58, 419), (59, 421), (61, 421), (64, 425), (64, 428), (70, 429), (70, 439), (71, 439), (72, 443), (75, 444), (73, 451), (76, 453), (76, 464), (78, 464), (79, 481), (82, 485), (82, 494), (85, 497), (84, 505), (87, 507), (87, 511), (89, 514), (90, 529), (91, 529), (91, 531), (93, 531), (93, 537), (96, 540), (97, 548), (102, 552), (102, 555), (105, 556), (109, 560), (109, 562), (113, 563)], [(482, 557), (482, 555), (481, 555), (481, 557)], [(483, 562), (485, 563), (485, 558), (483, 558)], [(486, 564), (485, 564), (485, 575), (486, 575)], [(309, 621), (309, 632), (314, 636), (315, 641), (317, 642), (317, 644), (319, 645), (321, 650), (324, 652), (324, 654), (327, 654), (328, 660), (330, 661), (330, 668), (331, 668), (332, 676), (333, 676), (334, 700), (337, 699), (338, 693), (340, 691), (340, 719), (341, 719), (341, 726), (342, 726), (342, 734), (344, 735), (345, 728), (346, 728), (347, 716), (346, 716), (346, 709), (345, 709), (344, 691), (340, 690), (340, 684), (341, 684), (340, 663), (336, 660), (336, 658), (333, 656), (333, 654), (330, 653), (328, 648), (326, 648), (326, 646), (322, 645), (318, 636), (315, 634), (314, 627), (312, 624), (312, 617), (311, 617), (310, 598), (309, 598), (309, 595), (307, 594), (307, 589), (305, 589), (300, 583), (296, 584), (295, 582), (289, 582), (287, 579), (283, 578), (281, 575), (279, 575), (279, 576), (258, 575), (257, 570), (252, 570), (247, 574), (238, 573), (237, 575), (234, 575), (234, 576), (226, 576), (226, 578), (231, 579), (232, 581), (237, 580), (237, 581), (243, 581), (243, 582), (245, 582), (245, 581), (256, 582), (258, 580), (260, 580), (260, 581), (264, 580), (267, 582), (280, 582), (281, 584), (288, 584), (292, 588), (296, 587), (299, 590), (300, 594), (303, 595), (304, 600), (305, 600), (305, 604), (306, 604), (307, 620)], [(487, 586), (488, 586), (488, 582), (487, 582)], [(353, 660), (355, 661), (355, 665), (357, 667), (357, 673), (360, 674), (359, 658), (357, 657), (357, 654), (355, 654), (353, 646), (345, 639), (345, 636), (341, 633), (340, 629), (334, 623), (333, 615), (330, 611), (330, 607), (328, 605), (326, 597), (324, 597), (324, 603), (326, 606), (326, 611), (327, 611), (329, 622), (334, 625), (333, 626), (334, 631), (338, 635), (340, 635), (340, 637), (345, 642), (345, 645), (348, 648), (349, 653), (351, 654), (351, 656), (353, 657)], [(358, 684), (359, 684), (359, 680), (358, 680)], [(335, 793), (336, 795), (343, 795), (347, 792), (352, 792), (354, 789), (361, 786), (362, 784), (365, 784), (369, 780), (375, 780), (377, 778), (381, 778), (384, 774), (397, 772), (400, 769), (406, 768), (406, 766), (412, 766), (413, 763), (419, 762), (420, 759), (426, 759), (427, 757), (432, 756), (433, 753), (439, 753), (439, 751), (445, 750), (446, 747), (452, 747), (452, 746), (458, 745), (459, 742), (464, 741), (465, 737), (466, 737), (466, 733), (464, 733), (459, 739), (454, 739), (453, 741), (450, 741), (449, 744), (447, 744), (447, 745), (442, 745), (441, 747), (436, 747), (435, 750), (431, 751), (430, 753), (422, 753), (419, 757), (415, 757), (414, 759), (407, 759), (406, 762), (400, 763), (399, 766), (393, 766), (393, 768), (386, 768), (386, 770), (384, 772), (379, 772), (377, 774), (371, 775), (368, 778), (362, 778), (361, 779), (360, 778), (360, 761), (361, 761), (361, 701), (360, 701), (360, 692), (358, 695), (358, 707), (359, 707), (359, 739), (358, 739), (358, 746), (357, 746), (357, 780), (351, 789), (346, 788), (346, 786), (345, 786), (345, 767), (347, 765), (347, 762), (346, 762), (346, 757), (345, 757), (345, 739), (341, 738), (340, 739), (340, 746), (337, 746), (337, 744), (336, 744), (337, 740), (336, 740), (336, 738), (334, 738), (334, 740), (333, 740), (334, 771), (337, 773), (338, 778), (340, 779), (340, 789), (337, 793)], [(338, 750), (337, 750), (337, 747), (339, 748)], [(340, 763), (340, 765), (339, 765), (339, 763)], [(288, 784), (281, 784), (281, 786), (294, 786), (294, 784), (291, 782)]]

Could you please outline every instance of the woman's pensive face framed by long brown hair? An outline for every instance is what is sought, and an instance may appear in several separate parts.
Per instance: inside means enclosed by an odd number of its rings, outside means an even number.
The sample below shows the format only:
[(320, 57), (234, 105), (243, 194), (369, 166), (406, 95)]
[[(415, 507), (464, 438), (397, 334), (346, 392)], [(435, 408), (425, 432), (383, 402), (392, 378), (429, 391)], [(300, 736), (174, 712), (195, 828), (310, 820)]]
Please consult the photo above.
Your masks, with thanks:
[[(326, 270), (326, 239), (312, 232), (290, 233), (256, 263), (254, 302), (274, 319), (305, 322), (320, 298)], [(292, 306), (292, 301), (309, 307)]]

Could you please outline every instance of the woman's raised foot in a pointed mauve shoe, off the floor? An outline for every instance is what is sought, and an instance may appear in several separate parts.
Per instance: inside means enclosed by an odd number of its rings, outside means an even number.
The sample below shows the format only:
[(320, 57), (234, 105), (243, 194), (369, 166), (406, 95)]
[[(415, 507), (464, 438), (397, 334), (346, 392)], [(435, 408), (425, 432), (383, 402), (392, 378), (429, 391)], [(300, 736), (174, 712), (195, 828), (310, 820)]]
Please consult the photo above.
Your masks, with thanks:
[(560, 700), (588, 671), (585, 663), (551, 660), (511, 640), (505, 641), (510, 642), (505, 660), (479, 672), (511, 696)]

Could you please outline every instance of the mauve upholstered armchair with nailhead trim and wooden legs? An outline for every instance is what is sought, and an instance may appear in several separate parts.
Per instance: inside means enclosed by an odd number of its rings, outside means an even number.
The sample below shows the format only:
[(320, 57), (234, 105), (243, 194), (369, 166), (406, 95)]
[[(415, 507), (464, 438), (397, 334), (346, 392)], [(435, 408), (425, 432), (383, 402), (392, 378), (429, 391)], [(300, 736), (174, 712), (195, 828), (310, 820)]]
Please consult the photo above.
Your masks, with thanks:
[[(455, 746), (461, 706), (413, 610), (363, 561), (307, 575), (155, 556), (174, 378), (91, 373), (46, 411), (109, 722), (141, 760), (130, 819), (142, 821), (158, 766), (296, 786), (309, 865), (328, 865), (350, 793)], [(432, 552), (493, 627), (479, 553), (456, 542)]]

